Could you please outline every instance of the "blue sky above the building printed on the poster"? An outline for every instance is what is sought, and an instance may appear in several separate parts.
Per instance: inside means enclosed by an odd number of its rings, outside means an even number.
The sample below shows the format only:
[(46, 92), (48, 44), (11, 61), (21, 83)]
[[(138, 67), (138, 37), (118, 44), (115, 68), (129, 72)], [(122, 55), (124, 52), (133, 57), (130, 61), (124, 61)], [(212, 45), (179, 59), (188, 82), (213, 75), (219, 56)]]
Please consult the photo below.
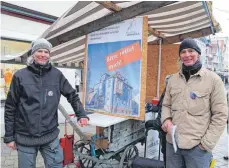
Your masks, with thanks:
[[(140, 61), (135, 61), (127, 66), (117, 69), (116, 71), (108, 72), (106, 67), (106, 56), (115, 51), (126, 47), (136, 41), (141, 43), (139, 40), (112, 42), (112, 43), (100, 43), (90, 44), (88, 46), (88, 61), (89, 68), (94, 71), (90, 71), (90, 88), (93, 88), (95, 84), (99, 83), (101, 76), (104, 73), (114, 74), (119, 72), (123, 77), (127, 79), (127, 82), (134, 89), (139, 88), (140, 85)], [(140, 44), (141, 45), (141, 44)], [(98, 58), (99, 57), (99, 58)], [(100, 60), (100, 61), (98, 61)], [(137, 70), (137, 68), (139, 70)], [(96, 71), (95, 71), (96, 70)]]

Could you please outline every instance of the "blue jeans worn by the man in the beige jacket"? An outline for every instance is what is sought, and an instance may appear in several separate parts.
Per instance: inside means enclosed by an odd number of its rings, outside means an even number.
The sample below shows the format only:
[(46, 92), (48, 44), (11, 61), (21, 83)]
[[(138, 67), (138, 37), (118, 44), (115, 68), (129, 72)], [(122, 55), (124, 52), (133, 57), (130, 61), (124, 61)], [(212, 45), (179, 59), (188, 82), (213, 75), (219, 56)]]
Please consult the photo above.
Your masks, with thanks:
[(199, 145), (192, 149), (177, 149), (174, 153), (173, 145), (166, 144), (166, 168), (209, 168), (212, 153), (200, 149)]

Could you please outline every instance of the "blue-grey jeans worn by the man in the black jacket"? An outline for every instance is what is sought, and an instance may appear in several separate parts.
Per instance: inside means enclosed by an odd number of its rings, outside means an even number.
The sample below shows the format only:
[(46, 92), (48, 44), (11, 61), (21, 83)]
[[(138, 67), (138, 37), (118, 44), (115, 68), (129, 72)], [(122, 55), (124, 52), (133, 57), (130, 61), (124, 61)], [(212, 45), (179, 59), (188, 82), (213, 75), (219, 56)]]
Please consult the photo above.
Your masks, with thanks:
[(36, 168), (36, 157), (38, 150), (44, 158), (45, 168), (63, 167), (63, 150), (60, 146), (58, 138), (49, 144), (41, 146), (27, 147), (17, 144), (18, 167)]

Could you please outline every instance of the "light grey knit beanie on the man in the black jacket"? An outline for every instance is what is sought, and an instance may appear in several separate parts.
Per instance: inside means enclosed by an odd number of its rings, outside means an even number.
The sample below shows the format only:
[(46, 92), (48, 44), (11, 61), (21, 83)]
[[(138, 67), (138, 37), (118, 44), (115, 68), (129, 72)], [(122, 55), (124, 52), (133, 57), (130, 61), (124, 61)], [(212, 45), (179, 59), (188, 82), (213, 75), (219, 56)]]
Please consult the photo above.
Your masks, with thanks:
[(31, 54), (33, 54), (35, 51), (39, 49), (47, 49), (50, 53), (51, 48), (52, 48), (52, 44), (48, 42), (46, 39), (41, 38), (32, 42)]

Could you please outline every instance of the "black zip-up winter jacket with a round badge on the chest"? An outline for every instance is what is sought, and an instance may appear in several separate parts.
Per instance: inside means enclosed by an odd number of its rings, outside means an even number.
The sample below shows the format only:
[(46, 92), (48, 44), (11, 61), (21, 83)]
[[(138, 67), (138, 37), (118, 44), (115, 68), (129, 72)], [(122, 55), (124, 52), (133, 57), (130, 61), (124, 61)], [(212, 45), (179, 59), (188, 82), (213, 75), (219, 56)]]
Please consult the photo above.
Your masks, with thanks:
[(15, 134), (36, 138), (56, 131), (61, 94), (72, 105), (78, 119), (86, 117), (75, 90), (51, 64), (32, 64), (18, 70), (5, 103), (4, 142), (15, 141)]

